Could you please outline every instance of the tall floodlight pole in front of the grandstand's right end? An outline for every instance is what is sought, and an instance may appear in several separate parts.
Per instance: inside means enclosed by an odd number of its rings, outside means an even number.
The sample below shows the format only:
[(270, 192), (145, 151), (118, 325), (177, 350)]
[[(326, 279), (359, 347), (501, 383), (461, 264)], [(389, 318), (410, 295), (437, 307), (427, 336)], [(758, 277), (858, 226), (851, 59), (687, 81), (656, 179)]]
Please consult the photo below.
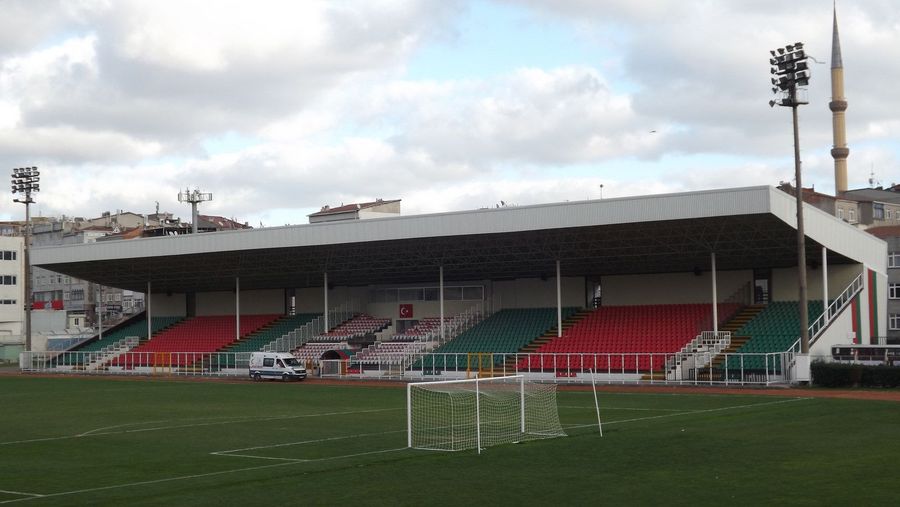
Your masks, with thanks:
[(803, 230), (803, 183), (800, 179), (800, 130), (797, 126), (797, 106), (808, 104), (797, 95), (797, 88), (809, 84), (808, 56), (803, 51), (803, 43), (788, 44), (783, 48), (769, 51), (772, 58), (772, 93), (776, 105), (791, 108), (794, 121), (794, 178), (797, 180), (797, 285), (800, 292), (800, 353), (809, 353), (809, 310), (806, 297), (806, 233)]

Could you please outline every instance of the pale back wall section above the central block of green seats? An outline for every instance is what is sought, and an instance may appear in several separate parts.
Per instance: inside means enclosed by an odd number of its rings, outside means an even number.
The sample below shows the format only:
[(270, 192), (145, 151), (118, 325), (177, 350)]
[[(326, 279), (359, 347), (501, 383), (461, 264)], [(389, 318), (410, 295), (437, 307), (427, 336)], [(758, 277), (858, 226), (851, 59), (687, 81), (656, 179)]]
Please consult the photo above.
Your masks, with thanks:
[[(585, 306), (584, 278), (563, 277), (562, 305)], [(556, 278), (522, 278), (493, 283), (491, 297), (495, 310), (503, 308), (555, 308)]]

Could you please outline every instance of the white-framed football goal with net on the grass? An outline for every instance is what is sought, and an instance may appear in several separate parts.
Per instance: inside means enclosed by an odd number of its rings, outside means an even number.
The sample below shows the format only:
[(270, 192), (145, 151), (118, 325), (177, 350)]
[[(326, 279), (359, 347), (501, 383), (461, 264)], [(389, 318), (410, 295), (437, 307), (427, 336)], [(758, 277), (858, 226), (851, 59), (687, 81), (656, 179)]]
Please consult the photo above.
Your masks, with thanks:
[(556, 384), (521, 375), (417, 382), (406, 391), (408, 446), (461, 451), (566, 436)]

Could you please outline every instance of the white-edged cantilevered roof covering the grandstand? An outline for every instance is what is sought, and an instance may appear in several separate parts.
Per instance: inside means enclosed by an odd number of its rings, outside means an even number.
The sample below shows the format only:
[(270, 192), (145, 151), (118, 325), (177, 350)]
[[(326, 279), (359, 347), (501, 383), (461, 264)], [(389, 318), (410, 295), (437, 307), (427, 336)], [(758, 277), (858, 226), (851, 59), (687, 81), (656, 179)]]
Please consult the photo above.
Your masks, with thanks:
[[(886, 244), (805, 205), (807, 255), (883, 272)], [(36, 266), (153, 292), (434, 283), (796, 265), (792, 196), (774, 187), (564, 202), (35, 248)]]

